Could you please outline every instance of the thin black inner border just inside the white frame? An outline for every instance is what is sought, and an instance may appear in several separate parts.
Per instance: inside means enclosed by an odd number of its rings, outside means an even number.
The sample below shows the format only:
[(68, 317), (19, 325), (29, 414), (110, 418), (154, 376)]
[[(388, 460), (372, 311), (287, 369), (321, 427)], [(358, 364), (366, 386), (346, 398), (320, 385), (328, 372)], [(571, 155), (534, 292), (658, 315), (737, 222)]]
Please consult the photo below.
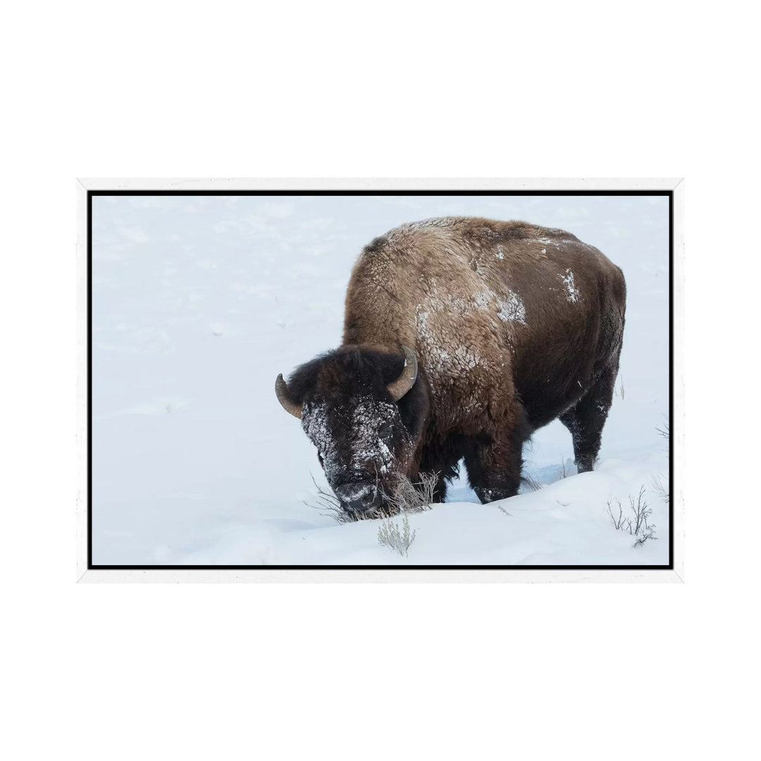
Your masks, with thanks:
[[(92, 199), (93, 196), (668, 196), (669, 199), (669, 425), (673, 426), (673, 190), (88, 190), (88, 570), (377, 570), (377, 571), (666, 571), (673, 569), (673, 504), (669, 500), (667, 565), (93, 565), (92, 562)], [(670, 436), (670, 441), (673, 437)], [(673, 452), (669, 441), (669, 495)]]

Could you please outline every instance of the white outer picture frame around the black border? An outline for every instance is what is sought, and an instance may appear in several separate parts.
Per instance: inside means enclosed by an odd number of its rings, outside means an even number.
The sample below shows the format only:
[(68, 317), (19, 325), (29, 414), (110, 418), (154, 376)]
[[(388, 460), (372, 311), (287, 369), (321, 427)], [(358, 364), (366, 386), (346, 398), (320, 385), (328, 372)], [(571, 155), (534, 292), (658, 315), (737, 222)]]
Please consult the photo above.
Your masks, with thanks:
[[(493, 190), (669, 191), (671, 194), (670, 568), (93, 568), (88, 562), (89, 366), (88, 197), (91, 191)], [(77, 181), (77, 578), (93, 582), (682, 582), (684, 581), (684, 181), (683, 179), (81, 179)]]

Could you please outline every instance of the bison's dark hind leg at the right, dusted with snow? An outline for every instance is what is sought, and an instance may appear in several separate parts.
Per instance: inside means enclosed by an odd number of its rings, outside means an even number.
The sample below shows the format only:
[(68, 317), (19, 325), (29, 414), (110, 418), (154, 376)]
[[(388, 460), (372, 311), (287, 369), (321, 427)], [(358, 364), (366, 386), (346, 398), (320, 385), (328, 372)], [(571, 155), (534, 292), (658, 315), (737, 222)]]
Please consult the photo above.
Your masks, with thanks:
[(560, 422), (571, 431), (576, 469), (579, 473), (592, 470), (600, 451), (603, 425), (613, 403), (613, 386), (616, 369), (604, 368), (594, 385), (568, 412), (560, 416)]

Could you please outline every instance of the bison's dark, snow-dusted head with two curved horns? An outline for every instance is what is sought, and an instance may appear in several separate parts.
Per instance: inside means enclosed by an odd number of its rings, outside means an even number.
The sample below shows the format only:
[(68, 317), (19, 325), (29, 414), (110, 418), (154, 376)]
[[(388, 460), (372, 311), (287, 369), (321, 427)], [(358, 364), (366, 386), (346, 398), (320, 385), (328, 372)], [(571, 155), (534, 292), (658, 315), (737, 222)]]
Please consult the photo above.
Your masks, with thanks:
[(275, 393), (301, 419), (330, 488), (349, 513), (384, 504), (410, 475), (428, 412), (415, 352), (344, 346), (301, 365)]

